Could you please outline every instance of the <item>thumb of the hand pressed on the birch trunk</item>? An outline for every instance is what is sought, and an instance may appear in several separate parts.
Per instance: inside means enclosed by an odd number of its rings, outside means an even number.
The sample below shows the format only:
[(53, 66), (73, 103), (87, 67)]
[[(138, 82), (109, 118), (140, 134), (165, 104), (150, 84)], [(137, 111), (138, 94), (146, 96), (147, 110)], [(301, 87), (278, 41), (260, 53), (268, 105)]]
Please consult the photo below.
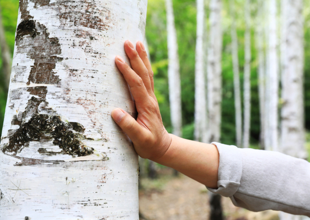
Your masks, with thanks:
[(111, 116), (132, 141), (137, 139), (137, 137), (139, 137), (143, 132), (143, 128), (135, 120), (135, 118), (132, 118), (131, 115), (129, 115), (123, 109), (114, 109), (111, 113)]

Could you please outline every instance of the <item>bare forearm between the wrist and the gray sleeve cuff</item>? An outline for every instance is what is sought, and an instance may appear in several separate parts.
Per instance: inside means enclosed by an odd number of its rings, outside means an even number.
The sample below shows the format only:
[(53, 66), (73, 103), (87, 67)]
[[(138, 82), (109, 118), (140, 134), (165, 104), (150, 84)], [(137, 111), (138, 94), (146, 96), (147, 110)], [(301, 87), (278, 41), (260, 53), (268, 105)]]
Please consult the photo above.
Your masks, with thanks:
[(178, 170), (211, 188), (217, 188), (219, 154), (213, 144), (186, 140), (171, 135), (168, 151), (155, 162)]

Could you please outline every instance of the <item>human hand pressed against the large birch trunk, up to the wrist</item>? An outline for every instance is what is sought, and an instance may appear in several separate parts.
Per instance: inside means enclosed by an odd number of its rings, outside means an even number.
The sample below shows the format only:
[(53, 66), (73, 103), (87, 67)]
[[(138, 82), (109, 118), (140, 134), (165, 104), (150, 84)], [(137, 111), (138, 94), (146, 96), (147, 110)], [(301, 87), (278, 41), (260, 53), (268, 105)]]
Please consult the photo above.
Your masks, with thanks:
[(154, 73), (144, 45), (139, 41), (136, 48), (129, 40), (125, 41), (124, 49), (132, 68), (120, 56), (116, 56), (115, 63), (136, 101), (138, 118), (135, 120), (120, 108), (114, 109), (111, 115), (132, 140), (136, 152), (142, 158), (156, 160), (168, 151), (172, 138), (162, 123), (154, 94)]

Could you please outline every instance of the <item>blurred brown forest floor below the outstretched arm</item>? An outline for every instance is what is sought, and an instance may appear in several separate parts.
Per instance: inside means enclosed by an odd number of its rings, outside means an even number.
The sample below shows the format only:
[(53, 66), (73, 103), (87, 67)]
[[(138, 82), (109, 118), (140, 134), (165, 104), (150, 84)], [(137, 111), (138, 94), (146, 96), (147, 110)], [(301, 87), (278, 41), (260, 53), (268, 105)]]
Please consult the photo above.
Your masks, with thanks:
[[(207, 220), (208, 192), (202, 184), (171, 169), (160, 169), (158, 178), (140, 178), (140, 220)], [(237, 208), (222, 197), (225, 220), (279, 220), (275, 211), (254, 213)]]

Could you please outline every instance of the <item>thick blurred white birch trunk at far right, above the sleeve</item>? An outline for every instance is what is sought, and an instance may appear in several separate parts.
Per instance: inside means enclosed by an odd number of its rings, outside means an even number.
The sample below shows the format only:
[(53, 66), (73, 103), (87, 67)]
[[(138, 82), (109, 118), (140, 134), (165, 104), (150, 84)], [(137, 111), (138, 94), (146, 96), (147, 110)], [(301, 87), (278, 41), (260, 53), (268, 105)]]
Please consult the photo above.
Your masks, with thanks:
[(303, 0), (282, 0), (282, 109), (280, 151), (307, 158), (304, 117)]

